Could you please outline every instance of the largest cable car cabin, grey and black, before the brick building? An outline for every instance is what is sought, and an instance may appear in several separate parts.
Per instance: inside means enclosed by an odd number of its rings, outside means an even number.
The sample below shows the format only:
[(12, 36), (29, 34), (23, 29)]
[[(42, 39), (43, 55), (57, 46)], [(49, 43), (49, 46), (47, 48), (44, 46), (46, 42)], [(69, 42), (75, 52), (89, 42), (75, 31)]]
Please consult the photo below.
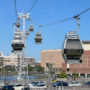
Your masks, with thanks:
[(80, 63), (83, 51), (84, 50), (79, 35), (77, 34), (66, 35), (63, 50), (63, 57), (66, 63), (70, 64)]

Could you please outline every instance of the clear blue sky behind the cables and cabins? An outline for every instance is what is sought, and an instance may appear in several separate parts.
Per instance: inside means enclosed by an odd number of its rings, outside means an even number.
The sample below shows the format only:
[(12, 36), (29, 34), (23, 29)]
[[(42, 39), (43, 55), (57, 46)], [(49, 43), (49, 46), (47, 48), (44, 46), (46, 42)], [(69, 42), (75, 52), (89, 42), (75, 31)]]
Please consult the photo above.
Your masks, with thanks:
[[(35, 0), (17, 0), (17, 11), (23, 9), (27, 12)], [(41, 50), (61, 49), (65, 34), (76, 30), (77, 25), (74, 19), (60, 24), (42, 28), (42, 44), (37, 45), (34, 37), (39, 28), (36, 25), (44, 25), (64, 18), (72, 17), (79, 12), (90, 8), (90, 0), (38, 0), (32, 9), (30, 18), (33, 20), (34, 32), (30, 33), (27, 39), (27, 56), (40, 60)], [(90, 40), (90, 11), (80, 16), (81, 40)], [(13, 23), (15, 22), (14, 0), (0, 0), (0, 51), (9, 55), (12, 51), (11, 42), (13, 38)], [(28, 29), (31, 21), (26, 23)]]

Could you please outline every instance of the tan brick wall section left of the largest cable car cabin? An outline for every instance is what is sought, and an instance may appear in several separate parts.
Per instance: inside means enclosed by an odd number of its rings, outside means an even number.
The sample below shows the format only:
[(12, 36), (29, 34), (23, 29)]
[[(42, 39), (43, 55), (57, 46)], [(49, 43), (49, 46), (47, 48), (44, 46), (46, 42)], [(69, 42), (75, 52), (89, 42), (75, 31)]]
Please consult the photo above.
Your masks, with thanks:
[(47, 63), (52, 64), (56, 70), (61, 69), (62, 63), (65, 63), (61, 50), (42, 50), (41, 66), (45, 68), (45, 71), (48, 71)]

